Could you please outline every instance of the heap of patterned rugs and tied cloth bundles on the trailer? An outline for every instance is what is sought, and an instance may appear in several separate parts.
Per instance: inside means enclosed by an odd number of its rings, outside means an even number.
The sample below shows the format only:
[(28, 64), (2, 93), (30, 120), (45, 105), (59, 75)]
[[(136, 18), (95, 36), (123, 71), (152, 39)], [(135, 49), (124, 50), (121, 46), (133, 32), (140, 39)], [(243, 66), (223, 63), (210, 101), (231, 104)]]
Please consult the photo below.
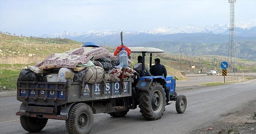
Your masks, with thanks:
[(119, 67), (118, 56), (103, 47), (80, 47), (64, 53), (54, 53), (35, 65), (42, 70), (60, 69), (65, 67), (74, 72), (73, 82), (97, 83), (99, 81), (120, 81), (122, 72), (124, 77), (132, 76), (134, 71), (128, 67)]

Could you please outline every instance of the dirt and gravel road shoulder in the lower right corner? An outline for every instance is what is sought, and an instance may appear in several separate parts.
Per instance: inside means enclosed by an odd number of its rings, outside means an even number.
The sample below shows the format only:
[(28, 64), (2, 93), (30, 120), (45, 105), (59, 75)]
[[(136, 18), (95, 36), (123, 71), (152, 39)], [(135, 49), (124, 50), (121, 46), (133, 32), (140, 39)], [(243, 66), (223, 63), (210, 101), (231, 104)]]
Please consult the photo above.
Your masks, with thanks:
[(256, 100), (220, 116), (218, 122), (188, 134), (256, 134)]

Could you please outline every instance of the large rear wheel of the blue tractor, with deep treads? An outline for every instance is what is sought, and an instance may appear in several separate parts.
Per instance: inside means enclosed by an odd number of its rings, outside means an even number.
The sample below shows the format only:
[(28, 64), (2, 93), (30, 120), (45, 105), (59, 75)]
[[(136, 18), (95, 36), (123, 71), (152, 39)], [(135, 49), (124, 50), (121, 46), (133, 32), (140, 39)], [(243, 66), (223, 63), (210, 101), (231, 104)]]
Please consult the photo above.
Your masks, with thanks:
[(142, 116), (147, 120), (158, 120), (165, 110), (165, 92), (162, 85), (153, 82), (148, 91), (141, 91), (139, 107)]

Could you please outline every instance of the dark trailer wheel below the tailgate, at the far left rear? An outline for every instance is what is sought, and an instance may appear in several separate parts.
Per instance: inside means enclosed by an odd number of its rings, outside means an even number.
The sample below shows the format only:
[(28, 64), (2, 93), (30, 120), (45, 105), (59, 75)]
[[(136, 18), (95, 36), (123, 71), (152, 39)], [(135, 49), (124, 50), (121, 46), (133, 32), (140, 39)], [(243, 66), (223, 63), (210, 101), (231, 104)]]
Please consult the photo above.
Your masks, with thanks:
[(39, 132), (47, 124), (48, 118), (20, 116), (20, 124), (28, 132)]

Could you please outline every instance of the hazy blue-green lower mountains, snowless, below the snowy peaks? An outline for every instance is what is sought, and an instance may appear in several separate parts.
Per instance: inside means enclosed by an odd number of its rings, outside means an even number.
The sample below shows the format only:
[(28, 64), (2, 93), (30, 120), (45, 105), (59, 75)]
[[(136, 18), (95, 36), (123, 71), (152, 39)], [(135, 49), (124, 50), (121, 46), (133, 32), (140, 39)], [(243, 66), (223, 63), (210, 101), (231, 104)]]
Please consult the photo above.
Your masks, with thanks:
[[(256, 61), (256, 39), (248, 41), (239, 41), (238, 43), (238, 57)], [(166, 53), (178, 54), (180, 50), (185, 55), (228, 55), (228, 42), (226, 43), (205, 43), (192, 42), (182, 43), (177, 41), (150, 41), (138, 46), (142, 47), (156, 47), (165, 50)]]

